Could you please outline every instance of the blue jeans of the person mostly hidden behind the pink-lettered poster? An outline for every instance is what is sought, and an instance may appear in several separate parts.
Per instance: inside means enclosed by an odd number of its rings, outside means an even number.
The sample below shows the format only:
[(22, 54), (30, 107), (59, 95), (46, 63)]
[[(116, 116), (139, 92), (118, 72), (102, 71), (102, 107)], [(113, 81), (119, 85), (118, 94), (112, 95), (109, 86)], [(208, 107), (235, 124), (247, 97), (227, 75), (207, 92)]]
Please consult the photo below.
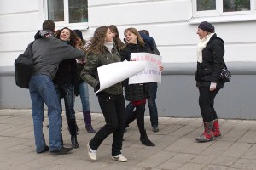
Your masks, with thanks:
[[(157, 82), (148, 82), (145, 84), (145, 88), (147, 89), (148, 95), (149, 95), (148, 108), (149, 108), (151, 126), (158, 127), (158, 111), (157, 111), (156, 102), (155, 102), (156, 92), (157, 92)], [(132, 114), (132, 111), (134, 110), (134, 108), (135, 107), (131, 104), (131, 102), (129, 102), (129, 104), (126, 106), (126, 113)]]

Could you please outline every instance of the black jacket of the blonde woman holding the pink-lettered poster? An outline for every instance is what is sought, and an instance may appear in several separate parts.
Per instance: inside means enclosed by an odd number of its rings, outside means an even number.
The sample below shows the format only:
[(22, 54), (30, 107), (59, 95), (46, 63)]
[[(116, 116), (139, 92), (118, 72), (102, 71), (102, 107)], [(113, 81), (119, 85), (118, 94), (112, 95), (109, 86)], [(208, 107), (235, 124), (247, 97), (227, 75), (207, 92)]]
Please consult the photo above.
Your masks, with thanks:
[[(148, 48), (140, 46), (138, 44), (128, 43), (125, 48), (120, 50), (121, 60), (131, 60), (131, 53), (148, 53)], [(136, 61), (134, 61), (136, 62)], [(130, 84), (128, 79), (123, 82), (125, 86), (125, 99), (128, 101), (137, 101), (148, 98), (148, 92), (145, 88), (145, 84)]]

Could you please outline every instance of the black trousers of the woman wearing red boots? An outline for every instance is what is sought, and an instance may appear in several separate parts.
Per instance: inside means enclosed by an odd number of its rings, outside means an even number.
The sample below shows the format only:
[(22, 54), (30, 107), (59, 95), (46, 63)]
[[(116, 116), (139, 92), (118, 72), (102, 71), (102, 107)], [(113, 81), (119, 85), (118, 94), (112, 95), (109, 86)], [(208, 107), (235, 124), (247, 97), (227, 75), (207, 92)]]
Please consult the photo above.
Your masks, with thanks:
[(212, 92), (209, 87), (199, 88), (199, 106), (203, 122), (212, 122), (214, 119), (218, 118), (214, 109), (214, 99), (218, 94), (218, 91), (219, 88), (216, 88)]

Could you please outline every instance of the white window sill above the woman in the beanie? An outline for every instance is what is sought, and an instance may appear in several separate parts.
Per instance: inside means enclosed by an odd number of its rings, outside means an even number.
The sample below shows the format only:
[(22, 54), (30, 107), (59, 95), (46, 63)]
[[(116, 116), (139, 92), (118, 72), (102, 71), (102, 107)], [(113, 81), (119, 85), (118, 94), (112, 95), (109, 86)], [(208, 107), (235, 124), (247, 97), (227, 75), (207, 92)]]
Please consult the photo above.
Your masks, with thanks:
[(256, 20), (256, 14), (243, 14), (243, 15), (225, 15), (225, 16), (206, 16), (195, 17), (189, 20), (189, 24), (199, 24), (202, 21), (207, 20), (211, 23), (223, 23), (223, 22), (242, 22)]

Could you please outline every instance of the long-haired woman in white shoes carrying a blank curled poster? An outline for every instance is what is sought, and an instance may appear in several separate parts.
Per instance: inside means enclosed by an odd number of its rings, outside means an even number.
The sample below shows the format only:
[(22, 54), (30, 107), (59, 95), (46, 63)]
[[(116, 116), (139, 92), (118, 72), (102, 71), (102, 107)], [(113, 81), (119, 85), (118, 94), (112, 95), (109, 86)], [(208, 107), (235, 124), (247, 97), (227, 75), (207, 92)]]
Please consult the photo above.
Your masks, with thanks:
[[(107, 26), (101, 26), (96, 29), (94, 36), (90, 39), (90, 45), (86, 53), (87, 62), (81, 72), (81, 77), (84, 82), (95, 88), (95, 92), (100, 88), (97, 68), (102, 65), (120, 62), (119, 53), (114, 47), (113, 37), (113, 32)], [(124, 136), (123, 116), (125, 115), (125, 97), (122, 84), (121, 82), (114, 84), (96, 95), (106, 124), (87, 144), (88, 156), (91, 160), (96, 161), (96, 150), (103, 140), (113, 133), (112, 159), (119, 162), (127, 161), (121, 153)]]

